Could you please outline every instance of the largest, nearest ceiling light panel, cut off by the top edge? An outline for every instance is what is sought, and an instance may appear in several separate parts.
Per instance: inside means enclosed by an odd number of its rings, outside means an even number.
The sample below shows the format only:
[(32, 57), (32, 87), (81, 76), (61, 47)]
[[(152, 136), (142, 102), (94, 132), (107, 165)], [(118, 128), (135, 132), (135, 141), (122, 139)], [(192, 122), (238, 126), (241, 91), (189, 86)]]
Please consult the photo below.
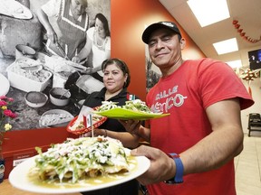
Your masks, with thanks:
[(201, 27), (230, 17), (227, 0), (188, 0), (187, 3)]

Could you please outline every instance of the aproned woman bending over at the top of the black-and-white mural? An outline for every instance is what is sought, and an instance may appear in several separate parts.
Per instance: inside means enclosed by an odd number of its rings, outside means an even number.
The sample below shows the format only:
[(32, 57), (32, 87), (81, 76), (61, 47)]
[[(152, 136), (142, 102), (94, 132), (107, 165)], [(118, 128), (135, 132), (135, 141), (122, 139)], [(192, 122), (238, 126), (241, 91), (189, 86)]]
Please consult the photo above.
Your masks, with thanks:
[(86, 42), (87, 0), (50, 0), (37, 11), (46, 30), (46, 51), (72, 60)]

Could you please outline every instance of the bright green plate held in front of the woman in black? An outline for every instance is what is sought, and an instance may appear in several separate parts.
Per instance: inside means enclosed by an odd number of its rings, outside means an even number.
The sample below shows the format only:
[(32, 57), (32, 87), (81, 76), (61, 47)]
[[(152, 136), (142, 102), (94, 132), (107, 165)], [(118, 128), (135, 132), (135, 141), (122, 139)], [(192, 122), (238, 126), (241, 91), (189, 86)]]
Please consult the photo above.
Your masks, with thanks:
[(132, 111), (132, 110), (118, 108), (118, 107), (102, 112), (93, 111), (93, 113), (100, 116), (106, 116), (108, 118), (121, 119), (121, 120), (130, 120), (130, 119), (147, 120), (147, 119), (160, 118), (160, 117), (170, 115), (170, 114), (161, 114), (161, 113), (148, 114), (144, 112)]

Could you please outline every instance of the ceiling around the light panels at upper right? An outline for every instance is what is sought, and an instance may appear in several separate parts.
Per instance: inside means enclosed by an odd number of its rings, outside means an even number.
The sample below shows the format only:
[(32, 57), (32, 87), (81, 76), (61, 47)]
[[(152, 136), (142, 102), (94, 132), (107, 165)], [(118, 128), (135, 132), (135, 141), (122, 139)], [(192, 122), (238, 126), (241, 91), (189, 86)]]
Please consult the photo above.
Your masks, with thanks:
[[(225, 62), (242, 60), (243, 67), (248, 67), (248, 51), (261, 49), (261, 41), (247, 42), (240, 36), (233, 24), (233, 20), (237, 20), (240, 29), (246, 32), (246, 36), (256, 40), (261, 39), (261, 0), (227, 0), (230, 18), (203, 28), (192, 14), (187, 0), (159, 1), (208, 58)], [(204, 7), (202, 7), (202, 12), (204, 12)], [(218, 55), (212, 43), (234, 37), (237, 38), (239, 51)]]

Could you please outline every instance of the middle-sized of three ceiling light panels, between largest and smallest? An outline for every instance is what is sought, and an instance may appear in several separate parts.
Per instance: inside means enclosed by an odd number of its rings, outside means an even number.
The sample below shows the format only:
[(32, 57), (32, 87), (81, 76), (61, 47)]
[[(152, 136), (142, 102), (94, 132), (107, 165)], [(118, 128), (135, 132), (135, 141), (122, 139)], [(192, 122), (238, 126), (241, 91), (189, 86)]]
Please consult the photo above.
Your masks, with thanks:
[(222, 42), (215, 42), (213, 43), (213, 46), (215, 50), (218, 52), (218, 55), (232, 51), (238, 51), (236, 38), (228, 39)]

